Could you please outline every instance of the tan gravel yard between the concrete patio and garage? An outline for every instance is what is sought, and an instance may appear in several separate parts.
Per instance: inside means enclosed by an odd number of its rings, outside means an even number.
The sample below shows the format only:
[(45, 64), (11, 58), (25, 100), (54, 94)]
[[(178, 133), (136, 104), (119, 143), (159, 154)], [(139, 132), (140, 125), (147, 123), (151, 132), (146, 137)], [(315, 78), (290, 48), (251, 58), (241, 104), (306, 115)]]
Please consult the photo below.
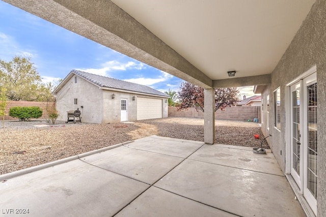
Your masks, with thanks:
[[(203, 119), (164, 118), (130, 123), (57, 123), (45, 120), (5, 121), (0, 128), (0, 174), (33, 167), (110, 145), (158, 135), (204, 140)], [(257, 123), (216, 120), (216, 143), (260, 146)], [(263, 142), (264, 147), (269, 148)]]

